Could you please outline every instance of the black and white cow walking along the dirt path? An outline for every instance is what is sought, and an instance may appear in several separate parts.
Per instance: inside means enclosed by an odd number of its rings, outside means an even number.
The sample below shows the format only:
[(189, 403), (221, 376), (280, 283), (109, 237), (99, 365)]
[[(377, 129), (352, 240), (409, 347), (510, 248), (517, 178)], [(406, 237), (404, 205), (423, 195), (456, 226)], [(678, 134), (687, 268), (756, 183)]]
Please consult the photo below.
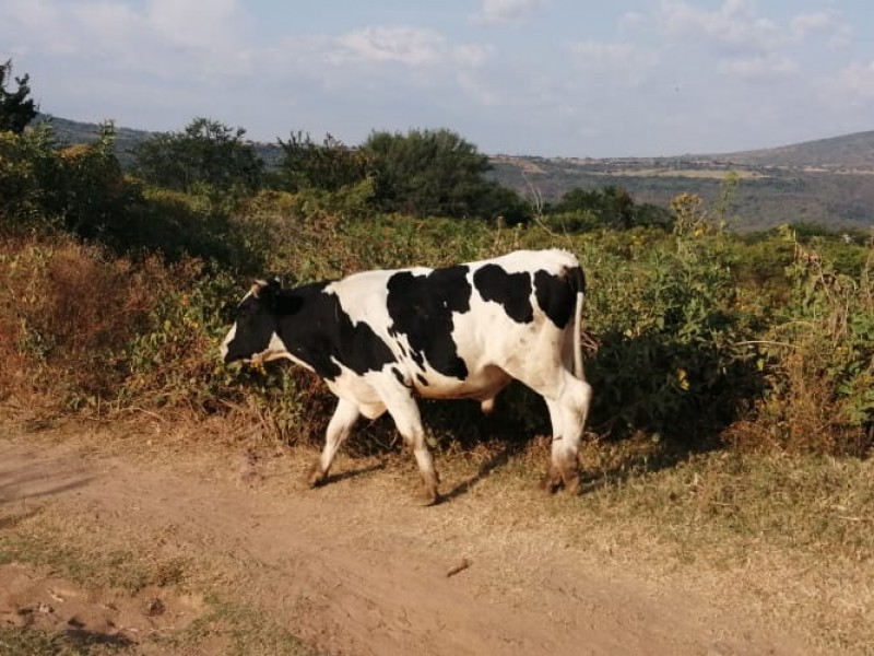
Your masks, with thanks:
[(517, 379), (546, 401), (554, 492), (579, 487), (577, 450), (592, 388), (582, 371), (586, 279), (564, 250), (517, 250), (438, 269), (373, 270), (283, 289), (259, 280), (221, 345), (225, 363), (286, 359), (338, 397), (324, 447), (306, 478), (322, 482), (356, 420), (388, 412), (412, 448), (422, 501), (439, 500), (416, 396), (494, 408)]

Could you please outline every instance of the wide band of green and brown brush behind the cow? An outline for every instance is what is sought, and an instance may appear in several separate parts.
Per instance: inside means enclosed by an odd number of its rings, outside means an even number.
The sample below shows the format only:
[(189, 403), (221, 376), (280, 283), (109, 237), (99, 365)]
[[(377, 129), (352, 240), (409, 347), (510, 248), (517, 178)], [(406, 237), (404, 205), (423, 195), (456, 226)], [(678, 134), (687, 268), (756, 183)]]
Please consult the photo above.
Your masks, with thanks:
[[(373, 215), (367, 194), (366, 184), (336, 195), (262, 192), (227, 224), (211, 224), (209, 198), (146, 190), (151, 207), (163, 203), (166, 216), (178, 212), (173, 221), (185, 238), (212, 238), (212, 253), (261, 254), (248, 269), (181, 251), (174, 262), (118, 257), (70, 237), (8, 238), (0, 356), (16, 375), (3, 379), (0, 395), (52, 390), (69, 408), (231, 412), (285, 442), (320, 438), (334, 399), (311, 374), (217, 361), (229, 327), (222, 308), (238, 302), (252, 274), (280, 273), (291, 285), (557, 246), (579, 254), (589, 282), (590, 430), (613, 437), (643, 432), (686, 452), (717, 447), (720, 437), (744, 448), (871, 448), (871, 246), (828, 241), (820, 253), (815, 238), (800, 244), (788, 232), (745, 243), (709, 223), (694, 197), (678, 199), (672, 234), (637, 227), (558, 235), (540, 225)], [(202, 237), (186, 223), (190, 216), (200, 216)], [(794, 256), (783, 276), (787, 247)], [(768, 260), (770, 274), (751, 276), (751, 262), (771, 250), (779, 255)], [(863, 265), (850, 274), (832, 257)], [(253, 270), (259, 265), (265, 268)], [(501, 411), (488, 419), (475, 403), (423, 402), (432, 440), (548, 432), (542, 401), (523, 387), (498, 402)], [(389, 421), (364, 432), (373, 445), (393, 442)]]

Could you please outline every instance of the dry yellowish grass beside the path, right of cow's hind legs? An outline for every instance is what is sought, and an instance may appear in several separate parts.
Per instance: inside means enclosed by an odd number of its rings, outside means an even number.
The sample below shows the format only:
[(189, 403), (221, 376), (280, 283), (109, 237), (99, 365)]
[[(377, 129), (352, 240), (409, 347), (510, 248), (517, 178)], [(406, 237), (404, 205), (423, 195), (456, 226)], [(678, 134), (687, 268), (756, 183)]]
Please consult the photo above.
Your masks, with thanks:
[(482, 480), (471, 471), (483, 471), (483, 453), (440, 462), (445, 478), (477, 481), (454, 500), (462, 511), (453, 525), (489, 535), (508, 595), (518, 594), (513, 572), (531, 552), (558, 544), (592, 571), (617, 567), (653, 590), (670, 583), (727, 612), (752, 609), (823, 653), (870, 653), (874, 462), (710, 453), (663, 467), (660, 450), (648, 440), (590, 443), (583, 494), (546, 505), (533, 492), (544, 443)]

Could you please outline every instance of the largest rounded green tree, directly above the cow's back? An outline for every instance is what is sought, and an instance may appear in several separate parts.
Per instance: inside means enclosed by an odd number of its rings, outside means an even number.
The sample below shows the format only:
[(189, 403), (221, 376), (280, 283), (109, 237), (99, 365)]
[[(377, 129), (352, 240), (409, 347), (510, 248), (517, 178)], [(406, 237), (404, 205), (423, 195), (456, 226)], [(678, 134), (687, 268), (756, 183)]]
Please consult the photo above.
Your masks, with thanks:
[(362, 147), (376, 173), (380, 209), (416, 216), (492, 218), (496, 208), (481, 203), (493, 188), (484, 176), (488, 157), (457, 133), (411, 130), (373, 132)]

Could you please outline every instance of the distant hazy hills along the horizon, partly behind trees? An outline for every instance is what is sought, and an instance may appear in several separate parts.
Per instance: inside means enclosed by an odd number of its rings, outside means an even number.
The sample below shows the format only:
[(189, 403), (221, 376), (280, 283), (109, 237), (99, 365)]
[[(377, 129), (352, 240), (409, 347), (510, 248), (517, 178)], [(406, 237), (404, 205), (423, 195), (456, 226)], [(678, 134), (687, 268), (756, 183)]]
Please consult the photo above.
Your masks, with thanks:
[[(93, 141), (99, 126), (52, 118), (66, 143)], [(153, 132), (116, 128), (116, 150), (126, 166), (137, 143)], [(275, 166), (282, 149), (256, 143), (259, 156)], [(794, 145), (722, 154), (677, 157), (534, 157), (492, 155), (495, 181), (523, 196), (558, 200), (574, 188), (616, 185), (637, 202), (666, 206), (683, 192), (718, 202), (722, 180), (734, 172), (731, 226), (747, 231), (781, 223), (819, 223), (835, 229), (874, 226), (874, 131), (808, 141)]]

